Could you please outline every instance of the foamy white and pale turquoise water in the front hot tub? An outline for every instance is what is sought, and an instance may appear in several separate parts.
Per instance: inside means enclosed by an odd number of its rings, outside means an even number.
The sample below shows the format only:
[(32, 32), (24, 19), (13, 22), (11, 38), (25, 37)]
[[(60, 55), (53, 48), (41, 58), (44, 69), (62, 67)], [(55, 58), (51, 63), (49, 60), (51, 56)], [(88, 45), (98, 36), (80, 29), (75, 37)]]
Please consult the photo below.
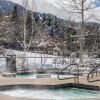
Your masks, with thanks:
[[(100, 91), (86, 90), (79, 88), (60, 88), (60, 89), (31, 89), (14, 88), (3, 90), (0, 93), (26, 98), (50, 99), (50, 100), (71, 100), (80, 98), (100, 98)], [(47, 98), (47, 99), (46, 99)]]

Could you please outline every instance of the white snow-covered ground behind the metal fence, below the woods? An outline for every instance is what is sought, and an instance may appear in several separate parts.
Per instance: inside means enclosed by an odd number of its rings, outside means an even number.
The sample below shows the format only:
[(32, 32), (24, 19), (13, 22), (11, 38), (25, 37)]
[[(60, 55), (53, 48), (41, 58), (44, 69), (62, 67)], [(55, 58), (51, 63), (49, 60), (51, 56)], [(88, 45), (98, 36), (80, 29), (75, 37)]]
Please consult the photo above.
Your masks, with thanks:
[[(19, 68), (22, 64), (23, 58), (19, 57), (28, 57), (26, 64), (29, 68), (62, 68), (66, 67), (73, 58), (62, 58), (61, 56), (54, 56), (48, 54), (41, 54), (41, 53), (30, 53), (30, 52), (23, 52), (17, 50), (10, 50), (7, 49), (5, 51), (5, 55), (16, 55), (16, 66)], [(100, 63), (100, 59), (90, 59), (87, 55), (84, 55), (84, 64), (88, 65), (89, 63)], [(74, 58), (75, 62), (79, 64), (79, 59)], [(64, 61), (64, 63), (63, 63)], [(0, 58), (0, 70), (5, 70), (6, 67), (6, 59)]]

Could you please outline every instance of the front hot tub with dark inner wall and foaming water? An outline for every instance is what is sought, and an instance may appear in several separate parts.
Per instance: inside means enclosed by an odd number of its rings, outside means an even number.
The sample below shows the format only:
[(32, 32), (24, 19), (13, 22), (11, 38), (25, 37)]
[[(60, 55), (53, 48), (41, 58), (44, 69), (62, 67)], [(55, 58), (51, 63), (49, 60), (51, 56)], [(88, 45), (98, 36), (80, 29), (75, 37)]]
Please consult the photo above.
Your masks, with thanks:
[(93, 87), (75, 84), (59, 86), (6, 85), (0, 86), (0, 93), (12, 97), (37, 98), (43, 100), (100, 98), (99, 90)]

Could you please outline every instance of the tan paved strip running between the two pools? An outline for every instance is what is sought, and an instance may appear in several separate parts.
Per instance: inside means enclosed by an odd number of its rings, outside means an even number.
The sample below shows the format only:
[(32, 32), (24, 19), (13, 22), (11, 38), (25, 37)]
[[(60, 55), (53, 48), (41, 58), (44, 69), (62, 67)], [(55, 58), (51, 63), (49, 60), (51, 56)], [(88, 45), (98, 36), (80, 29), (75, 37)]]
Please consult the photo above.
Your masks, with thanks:
[[(33, 85), (59, 85), (74, 83), (74, 79), (58, 80), (57, 78), (38, 78), (38, 79), (25, 79), (25, 78), (5, 78), (0, 76), (0, 85), (12, 85), (12, 84), (33, 84)], [(86, 78), (80, 78), (79, 84), (93, 85), (100, 87), (100, 81), (98, 82), (87, 82)]]

